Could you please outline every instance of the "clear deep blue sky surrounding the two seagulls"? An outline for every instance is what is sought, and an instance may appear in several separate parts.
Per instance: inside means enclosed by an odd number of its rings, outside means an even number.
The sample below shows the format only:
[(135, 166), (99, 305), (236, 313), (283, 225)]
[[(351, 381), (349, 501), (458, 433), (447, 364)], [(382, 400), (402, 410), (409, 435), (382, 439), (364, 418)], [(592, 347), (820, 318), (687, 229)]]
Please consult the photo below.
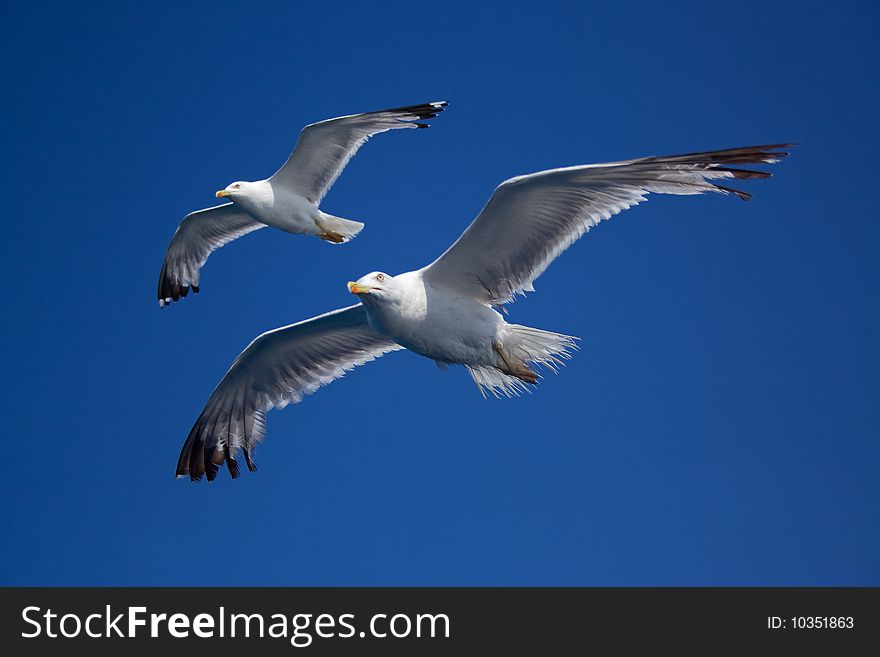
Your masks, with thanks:
[[(0, 583), (880, 584), (877, 5), (609, 4), (10, 9)], [(159, 309), (186, 212), (308, 122), (435, 99), (325, 199), (357, 240), (248, 236)], [(392, 354), (270, 413), (255, 475), (173, 478), (253, 337), (505, 178), (789, 140), (751, 203), (654, 197), (558, 260), (512, 318), (582, 350), (535, 394)]]

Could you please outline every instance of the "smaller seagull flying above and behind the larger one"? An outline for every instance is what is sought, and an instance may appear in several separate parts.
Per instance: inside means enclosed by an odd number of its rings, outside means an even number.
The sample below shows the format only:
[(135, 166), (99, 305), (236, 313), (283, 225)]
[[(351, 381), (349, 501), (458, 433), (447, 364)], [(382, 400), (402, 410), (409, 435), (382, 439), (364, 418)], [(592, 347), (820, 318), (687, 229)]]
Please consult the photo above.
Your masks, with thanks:
[(159, 274), (159, 306), (199, 291), (199, 270), (224, 244), (266, 226), (315, 235), (342, 244), (364, 227), (359, 221), (322, 212), (321, 199), (348, 161), (373, 135), (401, 128), (427, 128), (446, 101), (340, 116), (307, 125), (287, 162), (266, 180), (238, 181), (216, 193), (227, 198), (192, 212), (180, 222)]

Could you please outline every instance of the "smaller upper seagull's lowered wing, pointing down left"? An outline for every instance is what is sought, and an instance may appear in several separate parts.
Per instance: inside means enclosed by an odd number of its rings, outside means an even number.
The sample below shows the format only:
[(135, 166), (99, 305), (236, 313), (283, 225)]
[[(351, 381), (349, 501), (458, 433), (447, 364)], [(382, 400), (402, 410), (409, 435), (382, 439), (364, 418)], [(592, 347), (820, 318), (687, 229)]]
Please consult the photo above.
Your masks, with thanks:
[(186, 215), (165, 253), (165, 262), (159, 273), (159, 305), (164, 307), (185, 297), (190, 287), (193, 292), (198, 292), (199, 270), (212, 252), (265, 227), (266, 224), (255, 221), (234, 203)]

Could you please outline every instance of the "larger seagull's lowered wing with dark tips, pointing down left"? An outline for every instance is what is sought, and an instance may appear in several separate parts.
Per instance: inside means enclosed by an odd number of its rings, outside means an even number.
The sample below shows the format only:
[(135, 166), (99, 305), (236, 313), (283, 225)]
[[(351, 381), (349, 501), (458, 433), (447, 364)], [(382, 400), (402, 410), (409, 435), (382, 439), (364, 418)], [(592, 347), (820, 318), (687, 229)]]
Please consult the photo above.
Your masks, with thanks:
[(244, 452), (256, 469), (254, 446), (266, 433), (266, 412), (297, 403), (357, 365), (402, 349), (367, 324), (360, 304), (264, 333), (248, 345), (220, 381), (177, 461), (177, 476), (208, 480), (226, 462), (233, 479), (235, 457)]

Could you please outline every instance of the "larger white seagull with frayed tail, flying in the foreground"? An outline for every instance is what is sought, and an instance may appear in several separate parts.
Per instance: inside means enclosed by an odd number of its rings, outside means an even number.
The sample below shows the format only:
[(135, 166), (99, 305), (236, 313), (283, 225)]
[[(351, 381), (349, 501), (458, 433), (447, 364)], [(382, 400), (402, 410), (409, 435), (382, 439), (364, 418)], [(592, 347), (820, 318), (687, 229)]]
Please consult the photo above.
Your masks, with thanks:
[(430, 265), (397, 276), (373, 272), (348, 289), (360, 303), (269, 331), (245, 349), (189, 433), (177, 476), (209, 480), (224, 462), (239, 474), (266, 412), (297, 403), (357, 365), (409, 349), (441, 367), (463, 365), (484, 394), (514, 396), (553, 371), (577, 338), (508, 323), (496, 308), (532, 283), (581, 235), (649, 193), (750, 195), (718, 181), (767, 178), (735, 165), (770, 164), (791, 144), (646, 157), (541, 171), (503, 182), (479, 216)]

